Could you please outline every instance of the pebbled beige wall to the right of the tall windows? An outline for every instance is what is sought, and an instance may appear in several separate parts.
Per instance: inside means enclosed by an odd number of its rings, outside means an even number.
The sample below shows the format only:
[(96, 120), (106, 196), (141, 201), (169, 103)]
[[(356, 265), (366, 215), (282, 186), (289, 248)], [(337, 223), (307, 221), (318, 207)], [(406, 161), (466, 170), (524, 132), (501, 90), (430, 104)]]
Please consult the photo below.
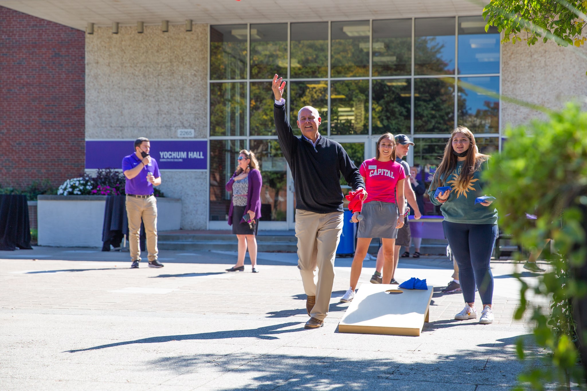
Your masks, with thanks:
[[(587, 49), (582, 47), (582, 53)], [(538, 41), (502, 45), (501, 92), (549, 108), (560, 108), (565, 101), (587, 95), (587, 60), (570, 47)], [(582, 99), (584, 101), (584, 98)], [(519, 125), (532, 118), (544, 118), (539, 111), (502, 102), (501, 124)]]

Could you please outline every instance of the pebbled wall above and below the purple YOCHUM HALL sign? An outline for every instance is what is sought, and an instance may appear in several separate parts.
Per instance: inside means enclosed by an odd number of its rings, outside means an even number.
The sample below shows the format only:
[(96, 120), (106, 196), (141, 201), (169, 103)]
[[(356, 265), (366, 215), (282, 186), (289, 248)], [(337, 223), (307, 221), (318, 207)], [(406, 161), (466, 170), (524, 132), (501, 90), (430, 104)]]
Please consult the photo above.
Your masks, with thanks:
[[(86, 35), (86, 138), (207, 137), (208, 26), (97, 27)], [(161, 191), (182, 200), (182, 229), (205, 229), (205, 172), (163, 171)]]

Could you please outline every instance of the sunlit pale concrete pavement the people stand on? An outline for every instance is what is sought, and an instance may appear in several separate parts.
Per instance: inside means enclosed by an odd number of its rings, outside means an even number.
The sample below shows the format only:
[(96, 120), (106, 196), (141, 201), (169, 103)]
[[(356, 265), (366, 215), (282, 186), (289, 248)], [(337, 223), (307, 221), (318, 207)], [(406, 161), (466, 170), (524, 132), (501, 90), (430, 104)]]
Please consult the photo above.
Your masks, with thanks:
[[(338, 332), (350, 259), (336, 260), (325, 327), (305, 330), (295, 254), (260, 254), (258, 274), (225, 273), (231, 251), (160, 256), (165, 267), (136, 270), (128, 253), (0, 251), (2, 389), (480, 391), (509, 389), (522, 369), (515, 341), (529, 324), (512, 319), (521, 268), (509, 261), (491, 265), (494, 324), (455, 321), (462, 295), (437, 292), (409, 337)], [(400, 262), (400, 281), (441, 287), (452, 274), (446, 258)], [(374, 267), (365, 261), (360, 283)]]

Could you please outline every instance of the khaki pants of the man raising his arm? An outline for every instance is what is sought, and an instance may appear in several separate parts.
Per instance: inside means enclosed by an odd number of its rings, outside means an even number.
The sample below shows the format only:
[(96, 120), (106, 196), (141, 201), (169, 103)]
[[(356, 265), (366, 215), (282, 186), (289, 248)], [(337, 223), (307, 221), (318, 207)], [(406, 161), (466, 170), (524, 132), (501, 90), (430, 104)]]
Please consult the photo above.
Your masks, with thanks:
[[(328, 315), (334, 259), (343, 226), (343, 213), (314, 213), (295, 211), (295, 236), (298, 238), (298, 268), (302, 276), (303, 290), (308, 296), (316, 296), (316, 304), (310, 316), (321, 321)], [(316, 283), (316, 267), (318, 282)]]

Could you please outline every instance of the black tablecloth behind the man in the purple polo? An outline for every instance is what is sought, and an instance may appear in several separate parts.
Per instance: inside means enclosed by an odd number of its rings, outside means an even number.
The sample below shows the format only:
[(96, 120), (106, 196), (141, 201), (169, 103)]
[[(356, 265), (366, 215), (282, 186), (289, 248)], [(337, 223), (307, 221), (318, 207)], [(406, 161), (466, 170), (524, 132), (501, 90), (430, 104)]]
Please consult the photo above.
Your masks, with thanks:
[[(102, 226), (102, 251), (110, 251), (112, 247), (120, 247), (124, 235), (129, 237), (129, 221), (126, 217), (126, 196), (106, 196), (104, 224)], [(140, 247), (145, 250), (147, 236), (141, 223)]]

